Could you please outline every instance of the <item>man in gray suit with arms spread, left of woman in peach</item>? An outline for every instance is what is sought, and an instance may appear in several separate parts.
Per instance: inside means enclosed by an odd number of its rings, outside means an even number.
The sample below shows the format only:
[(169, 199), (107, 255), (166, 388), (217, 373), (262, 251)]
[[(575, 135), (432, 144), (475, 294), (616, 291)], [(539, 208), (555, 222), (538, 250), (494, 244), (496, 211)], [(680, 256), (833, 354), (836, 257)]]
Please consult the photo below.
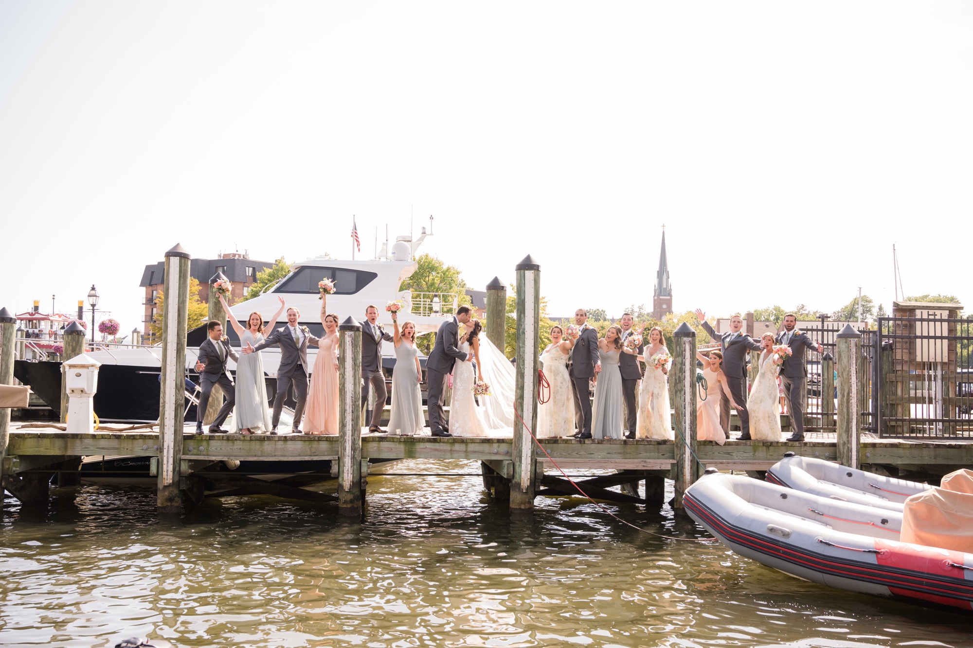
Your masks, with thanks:
[(291, 432), (301, 433), (301, 419), (307, 402), (307, 375), (310, 366), (307, 364), (307, 344), (317, 344), (320, 338), (311, 335), (306, 326), (298, 325), (301, 311), (291, 306), (287, 309), (287, 326), (282, 326), (271, 333), (264, 342), (256, 346), (247, 343), (243, 353), (253, 353), (276, 344), (280, 347), (280, 365), (277, 367), (277, 393), (273, 397), (273, 419), (270, 421), (273, 429), (270, 434), (277, 434), (277, 423), (280, 422), (280, 411), (284, 408), (287, 389), (294, 385), (297, 407), (294, 408), (294, 424)]

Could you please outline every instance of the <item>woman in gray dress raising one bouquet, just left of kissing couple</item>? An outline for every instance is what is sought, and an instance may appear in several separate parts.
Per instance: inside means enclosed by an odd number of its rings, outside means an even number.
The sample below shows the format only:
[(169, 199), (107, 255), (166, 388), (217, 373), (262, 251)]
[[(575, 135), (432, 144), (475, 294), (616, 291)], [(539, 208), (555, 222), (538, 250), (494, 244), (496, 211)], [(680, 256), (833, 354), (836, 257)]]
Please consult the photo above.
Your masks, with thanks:
[(422, 414), (422, 368), (419, 350), (415, 347), (415, 324), (406, 322), (399, 332), (397, 313), (392, 313), (393, 341), (395, 343), (395, 369), (392, 370), (392, 409), (388, 414), (389, 434), (412, 436), (422, 432), (425, 415)]

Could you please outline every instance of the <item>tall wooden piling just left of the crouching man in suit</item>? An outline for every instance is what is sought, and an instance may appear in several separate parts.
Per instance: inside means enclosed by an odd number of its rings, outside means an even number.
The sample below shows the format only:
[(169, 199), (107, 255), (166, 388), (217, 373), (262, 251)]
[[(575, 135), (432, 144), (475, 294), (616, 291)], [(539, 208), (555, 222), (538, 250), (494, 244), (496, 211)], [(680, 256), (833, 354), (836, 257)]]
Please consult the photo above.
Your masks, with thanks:
[(165, 253), (162, 306), (162, 380), (159, 398), (159, 479), (157, 506), (178, 514), (182, 460), (183, 410), (186, 402), (186, 327), (189, 315), (189, 252), (176, 245)]

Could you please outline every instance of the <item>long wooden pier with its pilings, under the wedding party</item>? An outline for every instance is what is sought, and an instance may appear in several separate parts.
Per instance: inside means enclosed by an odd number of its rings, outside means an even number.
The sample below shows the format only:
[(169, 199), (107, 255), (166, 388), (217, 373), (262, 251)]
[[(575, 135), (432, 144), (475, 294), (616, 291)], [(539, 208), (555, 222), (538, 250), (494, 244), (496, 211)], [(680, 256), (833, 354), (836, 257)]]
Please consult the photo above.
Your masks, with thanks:
[[(343, 516), (360, 517), (365, 510), (370, 465), (378, 460), (440, 459), (481, 462), (484, 487), (512, 511), (529, 512), (538, 495), (576, 495), (555, 463), (565, 470), (615, 471), (577, 481), (595, 499), (661, 505), (664, 480), (675, 482), (672, 505), (682, 507), (682, 493), (705, 468), (747, 471), (757, 476), (784, 452), (837, 461), (881, 474), (925, 473), (944, 475), (973, 465), (973, 439), (889, 440), (863, 435), (857, 411), (861, 372), (857, 362), (861, 336), (847, 327), (837, 340), (837, 434), (805, 442), (736, 442), (720, 446), (696, 440), (696, 333), (686, 324), (675, 332), (673, 365), (673, 441), (647, 439), (579, 440), (570, 437), (535, 441), (540, 266), (529, 256), (517, 266), (518, 364), (517, 420), (509, 438), (433, 438), (428, 436), (369, 435), (363, 428), (360, 401), (361, 326), (348, 317), (339, 327), (340, 433), (336, 436), (234, 435), (193, 433), (183, 423), (185, 402), (186, 305), (189, 254), (180, 246), (166, 253), (165, 303), (162, 333), (162, 398), (158, 430), (93, 431), (69, 433), (51, 429), (9, 428), (9, 411), (0, 411), (0, 479), (24, 504), (46, 502), (55, 474), (77, 475), (84, 456), (151, 456), (158, 479), (161, 515), (181, 512), (207, 493), (270, 493), (322, 502), (337, 502)], [(487, 300), (486, 331), (503, 345), (506, 297), (498, 280), (491, 282)], [(4, 319), (4, 318), (0, 318)], [(9, 319), (9, 318), (8, 318)], [(13, 344), (8, 342), (9, 321), (3, 327), (0, 378), (12, 380)], [(572, 431), (565, 430), (568, 435)], [(253, 471), (234, 472), (240, 461), (328, 461), (328, 470), (295, 471), (293, 478), (266, 482)], [(371, 463), (370, 463), (371, 462)], [(252, 463), (250, 465), (253, 465)], [(297, 464), (295, 464), (297, 465)], [(325, 464), (320, 464), (324, 466)], [(338, 481), (337, 496), (305, 486)], [(638, 488), (611, 490), (613, 486), (645, 483)], [(631, 494), (636, 493), (636, 494)]]

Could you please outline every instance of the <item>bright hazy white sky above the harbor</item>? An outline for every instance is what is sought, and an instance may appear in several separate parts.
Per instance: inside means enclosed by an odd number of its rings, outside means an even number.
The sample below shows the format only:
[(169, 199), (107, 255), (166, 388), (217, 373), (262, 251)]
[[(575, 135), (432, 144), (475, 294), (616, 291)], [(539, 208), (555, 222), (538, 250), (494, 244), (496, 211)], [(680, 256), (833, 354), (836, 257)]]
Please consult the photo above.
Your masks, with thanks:
[(376, 227), (550, 311), (973, 304), (973, 3), (0, 3), (0, 306)]

